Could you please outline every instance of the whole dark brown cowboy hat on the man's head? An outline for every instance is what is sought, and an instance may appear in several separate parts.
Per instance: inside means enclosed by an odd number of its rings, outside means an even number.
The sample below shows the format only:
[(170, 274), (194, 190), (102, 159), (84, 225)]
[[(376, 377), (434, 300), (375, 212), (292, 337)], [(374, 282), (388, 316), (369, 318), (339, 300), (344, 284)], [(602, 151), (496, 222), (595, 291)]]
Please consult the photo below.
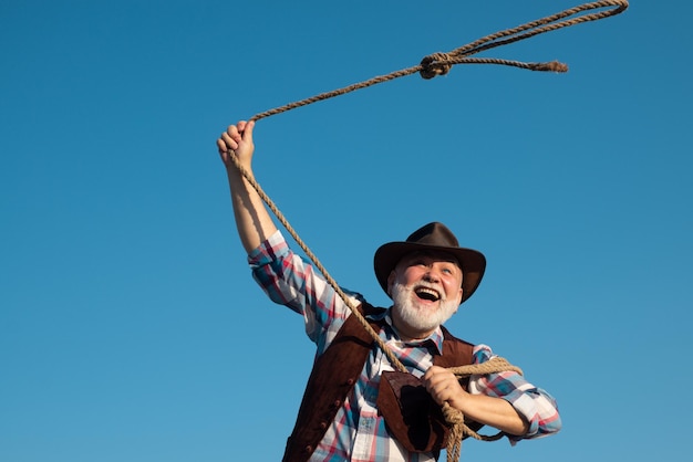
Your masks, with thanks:
[(380, 286), (387, 295), (387, 277), (402, 256), (422, 250), (443, 251), (455, 258), (462, 269), (462, 302), (472, 296), (478, 287), (486, 269), (486, 258), (482, 252), (461, 248), (455, 234), (443, 223), (433, 222), (414, 231), (405, 242), (389, 242), (375, 251), (373, 266)]

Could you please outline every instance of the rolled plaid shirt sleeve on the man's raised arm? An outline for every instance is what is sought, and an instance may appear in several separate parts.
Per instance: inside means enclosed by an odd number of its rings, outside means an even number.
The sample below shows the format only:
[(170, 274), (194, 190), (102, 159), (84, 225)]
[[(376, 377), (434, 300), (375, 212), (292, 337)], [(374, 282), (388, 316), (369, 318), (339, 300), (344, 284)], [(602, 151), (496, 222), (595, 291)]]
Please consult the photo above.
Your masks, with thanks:
[[(306, 333), (319, 350), (328, 342), (324, 337), (333, 322), (350, 313), (324, 277), (293, 253), (279, 230), (250, 252), (248, 263), (252, 277), (272, 302), (303, 315)], [(355, 301), (362, 300), (360, 294), (343, 291)]]

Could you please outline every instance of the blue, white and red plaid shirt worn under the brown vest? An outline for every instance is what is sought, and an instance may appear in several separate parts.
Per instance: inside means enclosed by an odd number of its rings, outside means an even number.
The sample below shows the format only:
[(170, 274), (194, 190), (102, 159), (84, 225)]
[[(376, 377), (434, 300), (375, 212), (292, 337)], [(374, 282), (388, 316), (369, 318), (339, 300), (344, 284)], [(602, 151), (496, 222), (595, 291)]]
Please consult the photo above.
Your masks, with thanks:
[[(288, 246), (279, 231), (250, 253), (248, 261), (255, 280), (269, 297), (301, 314), (306, 333), (321, 355), (330, 345), (351, 311), (334, 290)], [(344, 291), (356, 304), (363, 297)], [(436, 329), (428, 338), (415, 343), (399, 339), (392, 327), (390, 312), (381, 316), (385, 325), (380, 337), (416, 377), (421, 377), (433, 365), (433, 354), (441, 353), (443, 335)], [(493, 357), (486, 345), (474, 349), (474, 363), (484, 363)], [(383, 370), (393, 370), (392, 365), (379, 347), (374, 347), (361, 371), (353, 390), (339, 409), (322, 441), (313, 452), (311, 461), (434, 461), (432, 453), (408, 453), (390, 437), (385, 422), (377, 414), (375, 400), (377, 385)], [(499, 397), (507, 400), (529, 422), (524, 437), (510, 437), (511, 442), (555, 433), (560, 429), (556, 401), (546, 391), (526, 381), (516, 372), (474, 376), (469, 380), (469, 392)]]

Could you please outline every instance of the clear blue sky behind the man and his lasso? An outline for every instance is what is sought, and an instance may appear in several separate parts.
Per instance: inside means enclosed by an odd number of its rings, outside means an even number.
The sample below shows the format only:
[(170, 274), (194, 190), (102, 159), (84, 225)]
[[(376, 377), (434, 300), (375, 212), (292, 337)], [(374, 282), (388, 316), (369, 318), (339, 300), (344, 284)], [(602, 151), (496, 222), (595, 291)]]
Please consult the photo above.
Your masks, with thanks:
[[(277, 461), (312, 360), (250, 279), (215, 139), (579, 2), (0, 0), (0, 460)], [(344, 286), (443, 221), (488, 259), (451, 329), (558, 399), (463, 460), (652, 461), (693, 412), (690, 2), (260, 120), (256, 174)]]

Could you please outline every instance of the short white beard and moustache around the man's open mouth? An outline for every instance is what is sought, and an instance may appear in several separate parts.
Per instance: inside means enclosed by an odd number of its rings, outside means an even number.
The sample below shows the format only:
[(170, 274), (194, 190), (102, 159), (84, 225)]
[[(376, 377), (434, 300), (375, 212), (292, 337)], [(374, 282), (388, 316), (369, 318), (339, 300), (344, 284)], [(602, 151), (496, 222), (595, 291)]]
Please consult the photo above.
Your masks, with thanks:
[[(421, 286), (421, 283), (415, 285)], [(425, 284), (423, 284), (425, 285)], [(414, 293), (414, 284), (403, 285), (395, 282), (392, 286), (392, 301), (401, 319), (411, 328), (420, 332), (428, 332), (438, 327), (451, 318), (457, 311), (457, 304), (454, 300), (446, 300), (445, 294), (441, 293), (438, 301), (438, 309), (431, 313), (416, 306), (416, 294)]]

